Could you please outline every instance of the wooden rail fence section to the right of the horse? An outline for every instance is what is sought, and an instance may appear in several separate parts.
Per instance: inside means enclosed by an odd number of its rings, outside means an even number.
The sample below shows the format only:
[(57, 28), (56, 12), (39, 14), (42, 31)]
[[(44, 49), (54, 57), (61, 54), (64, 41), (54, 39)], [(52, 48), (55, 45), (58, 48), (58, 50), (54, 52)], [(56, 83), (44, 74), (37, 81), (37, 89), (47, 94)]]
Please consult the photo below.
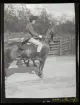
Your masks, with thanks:
[(75, 54), (75, 37), (55, 37), (54, 43), (50, 43), (49, 55)]

